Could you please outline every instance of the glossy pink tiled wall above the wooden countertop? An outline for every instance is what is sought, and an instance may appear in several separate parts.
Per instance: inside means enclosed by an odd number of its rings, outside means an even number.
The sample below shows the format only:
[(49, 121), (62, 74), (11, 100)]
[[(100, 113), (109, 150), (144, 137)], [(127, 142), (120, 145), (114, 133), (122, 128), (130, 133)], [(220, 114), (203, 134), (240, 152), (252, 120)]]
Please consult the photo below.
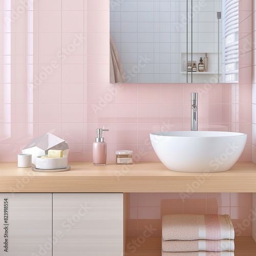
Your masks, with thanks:
[[(20, 5), (11, 1), (12, 12)], [(247, 38), (248, 5), (243, 8), (245, 32), (241, 34)], [(110, 84), (108, 1), (77, 0), (74, 5), (66, 0), (35, 1), (29, 10), (34, 11), (20, 14), (11, 23), (11, 71), (3, 76), (5, 97), (0, 99), (1, 161), (16, 161), (32, 138), (46, 132), (67, 140), (69, 161), (92, 161), (96, 129), (103, 125), (110, 129), (104, 134), (108, 162), (124, 148), (133, 150), (137, 161), (159, 161), (149, 133), (190, 130), (190, 92), (199, 93), (199, 130), (246, 132), (240, 161), (251, 161), (248, 58), (241, 58), (243, 88)], [(32, 28), (26, 25), (29, 13), (33, 13)]]

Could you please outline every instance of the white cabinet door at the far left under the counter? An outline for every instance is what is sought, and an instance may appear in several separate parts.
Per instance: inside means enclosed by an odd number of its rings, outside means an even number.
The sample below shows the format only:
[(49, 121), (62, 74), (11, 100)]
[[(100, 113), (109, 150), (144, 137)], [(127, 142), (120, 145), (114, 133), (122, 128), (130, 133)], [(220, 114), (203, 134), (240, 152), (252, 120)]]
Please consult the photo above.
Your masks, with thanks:
[(0, 255), (52, 255), (52, 194), (0, 193)]

